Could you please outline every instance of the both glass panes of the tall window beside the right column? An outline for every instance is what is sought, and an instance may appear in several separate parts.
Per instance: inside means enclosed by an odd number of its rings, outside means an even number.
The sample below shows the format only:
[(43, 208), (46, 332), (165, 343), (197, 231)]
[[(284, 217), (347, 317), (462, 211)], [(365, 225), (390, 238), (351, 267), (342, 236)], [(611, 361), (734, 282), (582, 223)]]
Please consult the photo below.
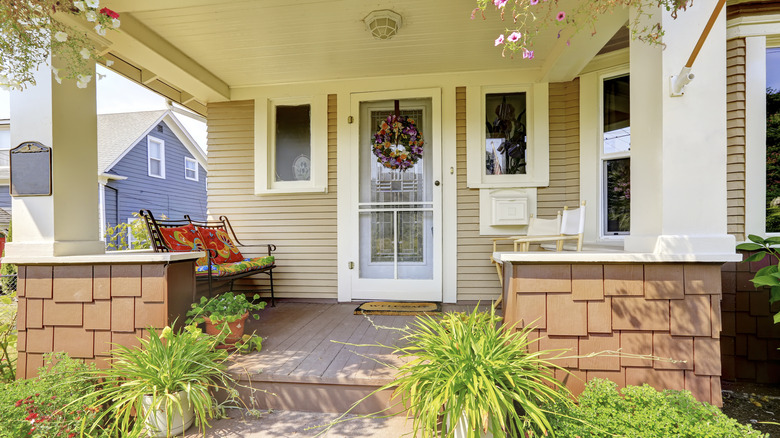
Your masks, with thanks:
[(603, 236), (629, 234), (631, 224), (631, 112), (628, 75), (601, 83)]

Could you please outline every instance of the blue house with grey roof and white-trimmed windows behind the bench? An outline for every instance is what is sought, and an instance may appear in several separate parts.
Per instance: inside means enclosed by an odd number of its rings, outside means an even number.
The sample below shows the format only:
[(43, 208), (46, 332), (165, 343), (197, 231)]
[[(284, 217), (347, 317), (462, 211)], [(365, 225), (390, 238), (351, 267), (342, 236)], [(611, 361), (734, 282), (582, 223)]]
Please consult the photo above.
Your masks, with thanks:
[(98, 116), (101, 236), (135, 219), (206, 219), (206, 156), (170, 110)]

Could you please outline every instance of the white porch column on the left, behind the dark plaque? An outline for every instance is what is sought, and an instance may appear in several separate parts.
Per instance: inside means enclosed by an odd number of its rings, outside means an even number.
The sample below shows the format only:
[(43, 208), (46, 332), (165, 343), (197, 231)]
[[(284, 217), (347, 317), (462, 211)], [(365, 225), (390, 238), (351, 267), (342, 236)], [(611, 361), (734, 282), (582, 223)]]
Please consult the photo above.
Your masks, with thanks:
[(46, 67), (37, 84), (11, 92), (11, 146), (52, 148), (52, 195), (14, 197), (14, 241), (8, 256), (104, 252), (98, 226), (95, 78), (85, 89), (58, 84)]

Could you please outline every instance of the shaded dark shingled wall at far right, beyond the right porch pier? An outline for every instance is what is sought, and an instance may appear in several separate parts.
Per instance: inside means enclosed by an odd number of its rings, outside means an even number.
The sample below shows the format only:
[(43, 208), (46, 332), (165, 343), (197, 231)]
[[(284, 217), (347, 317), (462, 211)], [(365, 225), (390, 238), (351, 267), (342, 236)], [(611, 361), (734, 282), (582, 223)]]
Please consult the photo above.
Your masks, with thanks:
[(750, 279), (755, 272), (777, 260), (723, 265), (723, 378), (759, 383), (780, 383), (780, 324), (772, 315), (769, 290), (756, 290)]

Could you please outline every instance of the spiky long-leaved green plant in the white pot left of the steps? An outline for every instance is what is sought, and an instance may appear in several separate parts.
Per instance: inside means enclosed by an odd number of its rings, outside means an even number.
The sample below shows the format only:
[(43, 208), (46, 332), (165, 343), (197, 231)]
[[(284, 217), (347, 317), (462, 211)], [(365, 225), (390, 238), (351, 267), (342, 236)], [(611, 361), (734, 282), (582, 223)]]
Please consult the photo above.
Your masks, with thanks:
[[(235, 395), (230, 387), (234, 381), (225, 373), (227, 353), (214, 348), (219, 339), (187, 326), (178, 333), (170, 327), (160, 334), (149, 329), (149, 339), (140, 342), (141, 348), (116, 345), (111, 351), (114, 361), (100, 372), (105, 382), (93, 394), (93, 406), (102, 405), (105, 410), (86, 425), (87, 433), (104, 425), (122, 437), (141, 436), (146, 419), (154, 412), (164, 410), (169, 423), (174, 412), (181, 412), (181, 402), (173, 397), (181, 391), (195, 410), (195, 424), (205, 433), (208, 420), (220, 411), (214, 392), (219, 389)], [(153, 398), (148, 411), (142, 407), (145, 395)], [(137, 419), (136, 413), (140, 413)]]

